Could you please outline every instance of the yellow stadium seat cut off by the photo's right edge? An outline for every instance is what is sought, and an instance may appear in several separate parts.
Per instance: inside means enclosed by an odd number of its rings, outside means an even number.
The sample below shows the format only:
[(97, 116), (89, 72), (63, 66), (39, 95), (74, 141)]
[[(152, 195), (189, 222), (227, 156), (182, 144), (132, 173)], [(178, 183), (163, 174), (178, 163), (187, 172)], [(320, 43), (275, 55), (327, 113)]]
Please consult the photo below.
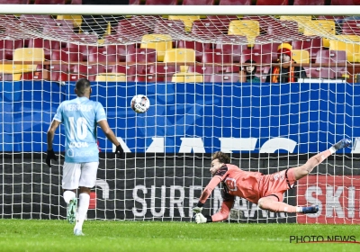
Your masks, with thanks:
[(329, 49), (345, 50), (347, 51), (347, 61), (360, 62), (360, 36), (336, 35), (334, 37), (335, 40), (329, 40)]

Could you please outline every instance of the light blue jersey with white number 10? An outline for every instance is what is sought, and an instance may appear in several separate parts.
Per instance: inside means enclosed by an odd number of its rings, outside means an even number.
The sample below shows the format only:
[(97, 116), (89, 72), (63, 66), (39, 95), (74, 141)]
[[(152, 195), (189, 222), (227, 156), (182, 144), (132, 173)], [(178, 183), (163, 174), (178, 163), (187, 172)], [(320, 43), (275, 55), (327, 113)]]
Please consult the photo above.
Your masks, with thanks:
[(65, 126), (65, 162), (99, 161), (96, 126), (98, 121), (105, 119), (103, 105), (87, 97), (77, 97), (60, 103), (54, 120), (64, 123)]

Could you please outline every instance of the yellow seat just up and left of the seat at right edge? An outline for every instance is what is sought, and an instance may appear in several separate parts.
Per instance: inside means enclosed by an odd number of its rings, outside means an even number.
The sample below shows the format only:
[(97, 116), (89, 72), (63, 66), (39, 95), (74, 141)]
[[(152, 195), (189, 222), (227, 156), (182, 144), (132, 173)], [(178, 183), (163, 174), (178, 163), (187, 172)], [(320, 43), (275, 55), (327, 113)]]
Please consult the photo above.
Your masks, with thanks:
[(312, 20), (303, 23), (304, 35), (317, 35), (323, 37), (322, 45), (329, 47), (329, 39), (324, 37), (331, 37), (335, 35), (335, 22), (332, 20)]

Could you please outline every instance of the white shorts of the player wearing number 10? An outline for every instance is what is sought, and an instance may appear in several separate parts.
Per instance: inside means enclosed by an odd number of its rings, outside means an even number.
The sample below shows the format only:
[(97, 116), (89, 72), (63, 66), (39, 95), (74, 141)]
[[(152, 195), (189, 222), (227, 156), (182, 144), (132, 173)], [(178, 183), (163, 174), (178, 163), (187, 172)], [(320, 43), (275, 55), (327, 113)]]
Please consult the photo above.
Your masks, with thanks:
[(67, 163), (64, 162), (62, 189), (74, 190), (79, 186), (93, 188), (96, 183), (99, 162)]

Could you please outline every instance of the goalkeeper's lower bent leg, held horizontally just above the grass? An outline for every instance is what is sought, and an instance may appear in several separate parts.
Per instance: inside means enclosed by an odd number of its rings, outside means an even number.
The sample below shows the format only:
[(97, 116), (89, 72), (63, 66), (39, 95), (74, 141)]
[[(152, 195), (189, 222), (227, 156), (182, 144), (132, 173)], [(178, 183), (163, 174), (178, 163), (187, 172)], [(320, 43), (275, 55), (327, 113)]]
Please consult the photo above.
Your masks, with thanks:
[(318, 206), (293, 206), (285, 202), (279, 202), (276, 196), (270, 195), (261, 198), (257, 205), (262, 210), (274, 212), (301, 212), (301, 213), (316, 213), (319, 211)]

